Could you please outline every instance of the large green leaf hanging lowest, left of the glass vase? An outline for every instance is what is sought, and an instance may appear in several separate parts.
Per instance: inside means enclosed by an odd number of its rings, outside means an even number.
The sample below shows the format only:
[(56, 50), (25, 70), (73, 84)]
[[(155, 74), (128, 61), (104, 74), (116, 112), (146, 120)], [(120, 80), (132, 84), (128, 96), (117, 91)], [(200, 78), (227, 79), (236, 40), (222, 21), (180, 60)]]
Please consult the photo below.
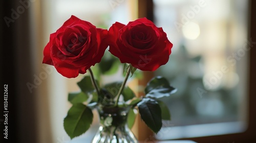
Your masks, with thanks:
[(85, 133), (93, 122), (93, 113), (90, 108), (83, 104), (74, 104), (64, 119), (64, 129), (70, 138)]

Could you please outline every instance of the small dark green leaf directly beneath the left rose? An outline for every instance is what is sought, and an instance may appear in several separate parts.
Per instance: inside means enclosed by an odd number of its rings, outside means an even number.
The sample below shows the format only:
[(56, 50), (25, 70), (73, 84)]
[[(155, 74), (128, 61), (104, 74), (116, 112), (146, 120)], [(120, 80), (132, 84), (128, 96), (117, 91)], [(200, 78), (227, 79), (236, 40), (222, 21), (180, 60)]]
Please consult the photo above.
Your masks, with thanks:
[(77, 83), (77, 85), (84, 93), (93, 92), (95, 90), (90, 76), (84, 77), (81, 81)]

